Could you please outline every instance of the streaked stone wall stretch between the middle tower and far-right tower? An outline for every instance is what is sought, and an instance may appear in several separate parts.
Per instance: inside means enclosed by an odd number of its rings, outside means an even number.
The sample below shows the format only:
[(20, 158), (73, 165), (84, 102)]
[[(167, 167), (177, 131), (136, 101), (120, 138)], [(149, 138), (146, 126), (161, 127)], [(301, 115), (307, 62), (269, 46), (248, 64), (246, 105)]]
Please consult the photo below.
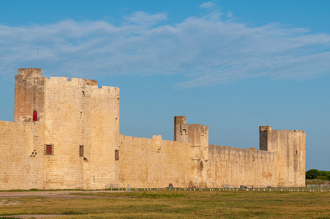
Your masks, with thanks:
[(208, 187), (277, 185), (277, 152), (209, 145)]

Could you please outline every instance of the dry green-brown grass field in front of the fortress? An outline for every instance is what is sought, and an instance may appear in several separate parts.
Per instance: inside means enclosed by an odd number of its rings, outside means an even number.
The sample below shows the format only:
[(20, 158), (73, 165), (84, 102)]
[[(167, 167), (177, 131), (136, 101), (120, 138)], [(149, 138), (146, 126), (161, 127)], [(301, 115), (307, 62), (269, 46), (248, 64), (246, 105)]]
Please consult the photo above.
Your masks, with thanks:
[[(72, 193), (75, 194), (74, 191)], [(92, 198), (6, 198), (7, 202), (22, 204), (0, 205), (0, 215), (66, 214), (63, 218), (330, 218), (330, 192), (171, 190), (88, 195)]]

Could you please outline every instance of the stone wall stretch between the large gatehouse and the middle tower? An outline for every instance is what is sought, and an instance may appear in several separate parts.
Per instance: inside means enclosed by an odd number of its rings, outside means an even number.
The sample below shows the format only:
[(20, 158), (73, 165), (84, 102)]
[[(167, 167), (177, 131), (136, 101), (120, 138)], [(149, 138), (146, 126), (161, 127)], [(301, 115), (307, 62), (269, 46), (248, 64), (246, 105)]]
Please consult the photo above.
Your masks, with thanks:
[(119, 183), (121, 186), (155, 188), (188, 187), (190, 144), (120, 135)]

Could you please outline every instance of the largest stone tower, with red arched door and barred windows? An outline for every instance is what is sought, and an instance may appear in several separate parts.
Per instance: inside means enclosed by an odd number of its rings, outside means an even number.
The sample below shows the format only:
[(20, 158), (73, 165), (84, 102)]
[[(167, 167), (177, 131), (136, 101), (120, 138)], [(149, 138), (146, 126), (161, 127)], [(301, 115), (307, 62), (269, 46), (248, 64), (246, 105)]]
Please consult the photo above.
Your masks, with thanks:
[(15, 122), (44, 124), (45, 189), (118, 183), (119, 88), (81, 78), (48, 79), (39, 68), (21, 68), (14, 115)]

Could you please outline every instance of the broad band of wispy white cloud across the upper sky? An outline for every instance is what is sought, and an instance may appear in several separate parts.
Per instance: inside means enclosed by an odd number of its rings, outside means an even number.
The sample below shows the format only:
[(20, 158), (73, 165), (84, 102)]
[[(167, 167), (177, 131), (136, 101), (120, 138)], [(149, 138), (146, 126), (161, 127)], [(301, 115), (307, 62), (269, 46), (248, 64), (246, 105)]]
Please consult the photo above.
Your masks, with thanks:
[(180, 73), (186, 80), (174, 85), (179, 88), (261, 75), (308, 79), (330, 73), (329, 34), (279, 23), (251, 27), (231, 16), (214, 10), (159, 25), (167, 14), (135, 12), (119, 25), (73, 20), (0, 25), (0, 72), (36, 67), (39, 48), (39, 67), (50, 75)]

